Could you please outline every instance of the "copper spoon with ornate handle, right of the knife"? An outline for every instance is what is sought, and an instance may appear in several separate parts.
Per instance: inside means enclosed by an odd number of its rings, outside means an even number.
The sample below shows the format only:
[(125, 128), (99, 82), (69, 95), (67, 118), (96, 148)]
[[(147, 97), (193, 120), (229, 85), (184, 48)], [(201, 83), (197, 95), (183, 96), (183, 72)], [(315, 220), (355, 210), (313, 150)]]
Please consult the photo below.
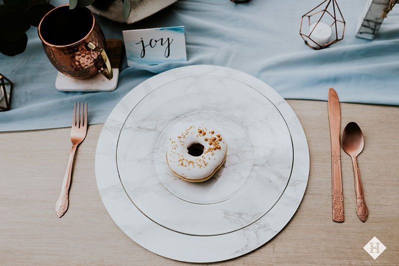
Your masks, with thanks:
[(352, 158), (353, 170), (355, 172), (355, 191), (356, 191), (356, 213), (362, 222), (366, 222), (369, 210), (363, 195), (362, 181), (358, 167), (358, 155), (363, 151), (365, 141), (363, 133), (358, 124), (350, 122), (346, 125), (342, 134), (342, 147)]

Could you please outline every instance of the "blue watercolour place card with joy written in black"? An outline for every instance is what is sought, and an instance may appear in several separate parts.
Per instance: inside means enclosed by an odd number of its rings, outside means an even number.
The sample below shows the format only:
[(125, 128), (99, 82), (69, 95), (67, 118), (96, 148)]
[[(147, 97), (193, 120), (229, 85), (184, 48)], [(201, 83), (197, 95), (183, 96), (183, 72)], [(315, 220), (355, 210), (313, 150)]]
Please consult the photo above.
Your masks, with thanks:
[(187, 61), (184, 26), (124, 30), (128, 65)]

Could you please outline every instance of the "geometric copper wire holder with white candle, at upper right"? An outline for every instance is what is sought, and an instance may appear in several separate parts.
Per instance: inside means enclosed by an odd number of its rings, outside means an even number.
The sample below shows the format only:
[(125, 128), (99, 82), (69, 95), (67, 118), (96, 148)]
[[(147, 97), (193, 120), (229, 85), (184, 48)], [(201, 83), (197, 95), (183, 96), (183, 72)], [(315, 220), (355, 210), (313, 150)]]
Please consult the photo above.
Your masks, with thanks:
[(324, 0), (301, 18), (299, 34), (312, 49), (326, 48), (342, 40), (344, 33), (345, 20), (337, 0)]

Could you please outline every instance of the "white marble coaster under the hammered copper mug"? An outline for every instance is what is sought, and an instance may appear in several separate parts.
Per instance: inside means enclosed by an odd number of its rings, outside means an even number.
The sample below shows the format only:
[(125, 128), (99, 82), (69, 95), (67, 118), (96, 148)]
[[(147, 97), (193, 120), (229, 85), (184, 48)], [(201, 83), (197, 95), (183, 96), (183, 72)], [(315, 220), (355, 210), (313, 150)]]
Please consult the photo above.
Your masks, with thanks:
[(88, 79), (74, 79), (58, 72), (55, 88), (59, 91), (113, 91), (118, 85), (119, 69), (112, 68), (112, 71), (114, 77), (111, 80), (101, 74)]

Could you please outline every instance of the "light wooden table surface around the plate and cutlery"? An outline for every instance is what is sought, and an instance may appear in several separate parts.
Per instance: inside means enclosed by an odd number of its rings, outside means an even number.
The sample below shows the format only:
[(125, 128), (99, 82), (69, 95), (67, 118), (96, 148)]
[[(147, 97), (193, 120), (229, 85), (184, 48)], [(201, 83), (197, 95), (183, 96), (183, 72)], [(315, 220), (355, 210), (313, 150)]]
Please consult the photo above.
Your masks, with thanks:
[[(289, 100), (307, 136), (310, 176), (288, 225), (266, 245), (228, 265), (398, 265), (399, 107), (341, 104), (342, 129), (356, 121), (365, 135), (359, 156), (369, 218), (356, 215), (350, 157), (341, 149), (345, 222), (331, 220), (327, 103)], [(70, 205), (55, 214), (68, 161), (69, 128), (0, 134), (0, 264), (179, 265), (130, 240), (112, 221), (97, 190), (94, 160), (102, 125), (89, 126), (78, 148)], [(341, 129), (341, 131), (342, 131)], [(387, 250), (375, 261), (363, 247), (376, 236)]]

